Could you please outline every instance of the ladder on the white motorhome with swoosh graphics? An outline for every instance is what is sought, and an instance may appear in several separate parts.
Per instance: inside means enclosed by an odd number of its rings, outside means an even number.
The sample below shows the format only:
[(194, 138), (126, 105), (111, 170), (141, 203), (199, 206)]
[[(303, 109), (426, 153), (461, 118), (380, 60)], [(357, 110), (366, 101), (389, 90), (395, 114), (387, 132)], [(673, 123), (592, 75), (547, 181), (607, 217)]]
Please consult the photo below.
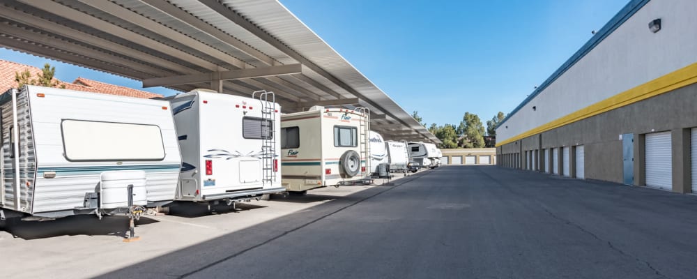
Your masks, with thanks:
[(261, 181), (266, 186), (276, 181), (275, 167), (274, 163), (276, 160), (276, 139), (274, 138), (275, 132), (275, 119), (276, 119), (276, 96), (273, 92), (261, 90), (254, 91), (252, 93), (252, 98), (259, 94), (259, 100), (261, 100), (261, 138), (263, 140), (261, 144), (261, 165), (262, 178)]

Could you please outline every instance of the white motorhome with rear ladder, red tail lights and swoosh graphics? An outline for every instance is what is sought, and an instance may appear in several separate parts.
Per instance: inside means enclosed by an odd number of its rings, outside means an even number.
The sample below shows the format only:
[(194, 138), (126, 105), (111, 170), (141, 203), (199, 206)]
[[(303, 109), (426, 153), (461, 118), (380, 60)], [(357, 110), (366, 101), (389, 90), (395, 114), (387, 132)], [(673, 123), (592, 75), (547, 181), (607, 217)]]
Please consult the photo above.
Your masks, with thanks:
[(279, 165), (281, 107), (273, 93), (259, 91), (247, 98), (197, 89), (166, 99), (183, 158), (177, 201), (233, 204), (285, 192)]

